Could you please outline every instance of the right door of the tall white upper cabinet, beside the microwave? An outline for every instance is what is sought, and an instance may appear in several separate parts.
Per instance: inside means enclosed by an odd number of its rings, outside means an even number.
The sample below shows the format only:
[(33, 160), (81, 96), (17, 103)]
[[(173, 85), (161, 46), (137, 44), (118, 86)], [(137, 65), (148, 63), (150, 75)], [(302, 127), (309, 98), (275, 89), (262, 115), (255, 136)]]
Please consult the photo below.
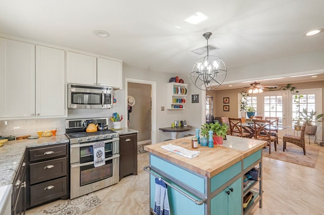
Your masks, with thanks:
[(36, 45), (36, 116), (65, 116), (64, 67), (64, 50)]

